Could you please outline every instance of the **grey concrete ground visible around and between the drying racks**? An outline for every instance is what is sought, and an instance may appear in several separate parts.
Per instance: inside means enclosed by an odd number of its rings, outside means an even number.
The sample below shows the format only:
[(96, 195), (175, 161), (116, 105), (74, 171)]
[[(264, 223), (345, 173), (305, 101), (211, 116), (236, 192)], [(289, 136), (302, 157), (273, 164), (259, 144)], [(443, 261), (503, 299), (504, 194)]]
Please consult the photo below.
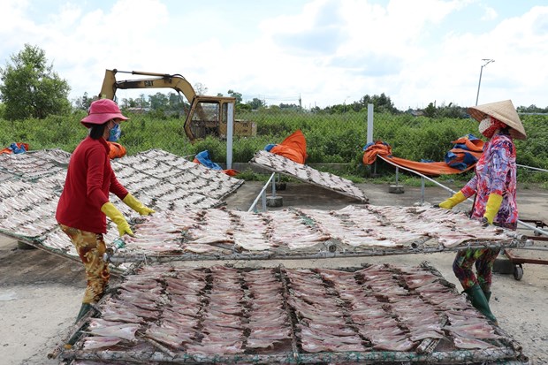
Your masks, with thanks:
[[(263, 184), (246, 182), (226, 199), (228, 209), (249, 209)], [(419, 187), (405, 186), (404, 194), (389, 194), (387, 185), (359, 184), (374, 205), (409, 206), (421, 201)], [(270, 188), (267, 190), (270, 194)], [(287, 183), (278, 190), (283, 206), (341, 209), (356, 202), (344, 195), (304, 183)], [(427, 187), (425, 201), (437, 203), (449, 194), (438, 187)], [(542, 189), (518, 190), (521, 219), (548, 222), (548, 192)], [(469, 209), (462, 203), (460, 209)], [(261, 209), (261, 207), (259, 207)], [(525, 232), (525, 231), (524, 231)], [(531, 232), (526, 232), (532, 234)], [(543, 241), (537, 245), (545, 248)], [(548, 261), (545, 251), (519, 250), (527, 260)], [(428, 261), (453, 284), (458, 285), (451, 269), (454, 253), (429, 255), (397, 255), (351, 259), (289, 260), (286, 267), (352, 267), (362, 262), (388, 262), (415, 265)], [(223, 262), (182, 262), (187, 266), (208, 266)], [(279, 262), (232, 262), (247, 267), (265, 267)], [(512, 275), (494, 274), (491, 309), (499, 326), (524, 347), (531, 361), (548, 363), (548, 270), (544, 264), (523, 265), (521, 281)], [(115, 279), (115, 278), (114, 278)], [(52, 255), (38, 249), (21, 249), (16, 240), (0, 235), (0, 363), (57, 364), (49, 354), (68, 334), (80, 308), (86, 286), (80, 262)], [(458, 286), (460, 288), (460, 286)]]

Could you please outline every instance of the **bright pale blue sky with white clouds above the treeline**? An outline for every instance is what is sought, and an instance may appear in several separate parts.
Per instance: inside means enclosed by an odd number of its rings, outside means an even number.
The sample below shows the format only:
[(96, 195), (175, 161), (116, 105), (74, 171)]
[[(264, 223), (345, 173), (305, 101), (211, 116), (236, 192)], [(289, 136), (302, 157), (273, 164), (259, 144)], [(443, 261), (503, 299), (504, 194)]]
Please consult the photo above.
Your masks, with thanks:
[[(105, 69), (180, 73), (208, 95), (306, 108), (391, 97), (400, 110), (512, 99), (548, 106), (548, 4), (531, 0), (0, 2), (0, 67), (25, 43), (72, 88)], [(166, 92), (166, 90), (157, 90)], [(142, 91), (119, 91), (136, 97)]]

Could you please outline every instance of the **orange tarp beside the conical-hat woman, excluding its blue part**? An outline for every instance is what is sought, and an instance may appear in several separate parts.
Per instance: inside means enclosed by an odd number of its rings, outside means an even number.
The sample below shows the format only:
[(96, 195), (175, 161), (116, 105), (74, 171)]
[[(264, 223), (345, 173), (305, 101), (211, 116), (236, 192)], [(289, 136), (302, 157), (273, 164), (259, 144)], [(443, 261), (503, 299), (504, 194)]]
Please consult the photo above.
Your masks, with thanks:
[[(454, 160), (451, 163), (460, 163), (464, 160), (465, 153), (468, 153), (476, 159), (482, 155), (483, 151), (483, 141), (475, 140), (470, 141), (466, 137), (462, 137), (457, 141), (453, 141), (455, 144), (464, 144), (466, 148), (453, 148), (450, 152), (453, 152), (455, 155)], [(448, 163), (445, 162), (429, 162), (421, 163), (416, 161), (406, 160), (405, 158), (394, 157), (392, 156), (392, 148), (384, 143), (383, 141), (377, 141), (375, 144), (366, 148), (363, 153), (363, 163), (371, 164), (374, 163), (377, 159), (377, 156), (383, 156), (385, 159), (389, 160), (391, 163), (397, 164), (401, 167), (407, 169), (421, 172), (424, 175), (451, 175), (456, 173), (462, 173), (468, 171), (476, 166), (476, 163), (470, 163), (465, 169), (457, 169), (451, 167)]]

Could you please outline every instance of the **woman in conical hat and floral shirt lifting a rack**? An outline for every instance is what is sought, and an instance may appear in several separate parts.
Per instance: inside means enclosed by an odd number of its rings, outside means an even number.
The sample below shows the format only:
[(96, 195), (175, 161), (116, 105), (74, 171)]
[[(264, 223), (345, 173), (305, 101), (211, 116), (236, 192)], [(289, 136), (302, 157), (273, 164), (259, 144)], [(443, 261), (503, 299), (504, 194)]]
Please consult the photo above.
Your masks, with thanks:
[[(496, 224), (515, 230), (518, 208), (515, 201), (516, 164), (514, 138), (525, 140), (527, 134), (510, 100), (468, 108), (479, 122), (479, 132), (489, 141), (476, 163), (476, 175), (457, 194), (439, 204), (452, 209), (476, 194), (472, 218), (483, 224)], [(468, 293), (474, 307), (496, 323), (489, 308), (491, 274), (499, 248), (461, 250), (453, 262), (453, 272)], [(472, 266), (476, 265), (474, 274)]]

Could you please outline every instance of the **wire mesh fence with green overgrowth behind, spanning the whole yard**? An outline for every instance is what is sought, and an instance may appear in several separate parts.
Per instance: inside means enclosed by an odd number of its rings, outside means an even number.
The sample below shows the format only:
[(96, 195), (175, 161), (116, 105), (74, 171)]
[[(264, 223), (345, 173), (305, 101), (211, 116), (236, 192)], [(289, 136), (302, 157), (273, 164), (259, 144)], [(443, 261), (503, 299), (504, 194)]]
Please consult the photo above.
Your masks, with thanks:
[[(122, 124), (119, 143), (128, 155), (158, 148), (192, 158), (207, 149), (213, 161), (226, 162), (226, 131), (222, 130), (226, 125), (212, 128), (208, 136), (191, 142), (184, 128), (184, 114), (123, 111), (131, 120)], [(85, 111), (79, 110), (68, 117), (44, 120), (0, 119), (0, 145), (4, 148), (12, 142), (26, 142), (31, 149), (62, 148), (72, 152), (87, 133), (80, 125), (84, 116)], [(471, 118), (427, 118), (411, 113), (374, 113), (372, 131), (368, 131), (367, 108), (332, 114), (279, 108), (236, 110), (234, 118), (231, 148), (234, 163), (247, 163), (256, 151), (284, 141), (298, 129), (306, 137), (307, 163), (343, 163), (354, 170), (362, 167), (362, 148), (368, 142), (368, 133), (371, 141), (388, 143), (393, 156), (413, 161), (443, 161), (445, 153), (453, 148), (452, 141), (468, 133), (478, 135), (477, 122)], [(548, 117), (521, 118), (529, 138), (516, 141), (518, 163), (548, 168)]]

